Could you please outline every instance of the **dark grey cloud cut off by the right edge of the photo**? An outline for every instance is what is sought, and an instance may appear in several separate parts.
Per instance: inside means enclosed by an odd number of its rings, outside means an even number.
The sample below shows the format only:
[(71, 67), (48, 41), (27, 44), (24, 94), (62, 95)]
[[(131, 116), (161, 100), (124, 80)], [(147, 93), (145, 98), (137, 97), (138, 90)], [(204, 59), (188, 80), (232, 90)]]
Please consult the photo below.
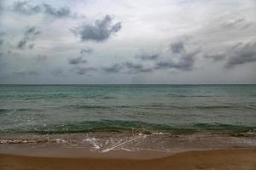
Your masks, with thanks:
[(236, 65), (243, 65), (256, 61), (256, 42), (248, 42), (246, 44), (238, 44), (233, 47), (227, 54), (227, 62), (225, 68), (233, 68)]

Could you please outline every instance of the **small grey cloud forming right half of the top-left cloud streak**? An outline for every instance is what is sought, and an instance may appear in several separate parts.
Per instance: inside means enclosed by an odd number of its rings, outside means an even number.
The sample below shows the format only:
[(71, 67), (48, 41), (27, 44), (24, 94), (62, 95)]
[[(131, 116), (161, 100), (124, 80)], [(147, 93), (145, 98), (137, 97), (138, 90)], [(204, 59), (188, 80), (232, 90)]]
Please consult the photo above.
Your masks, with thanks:
[(71, 14), (70, 9), (67, 7), (53, 8), (46, 3), (44, 3), (44, 13), (54, 16), (56, 18), (68, 17)]

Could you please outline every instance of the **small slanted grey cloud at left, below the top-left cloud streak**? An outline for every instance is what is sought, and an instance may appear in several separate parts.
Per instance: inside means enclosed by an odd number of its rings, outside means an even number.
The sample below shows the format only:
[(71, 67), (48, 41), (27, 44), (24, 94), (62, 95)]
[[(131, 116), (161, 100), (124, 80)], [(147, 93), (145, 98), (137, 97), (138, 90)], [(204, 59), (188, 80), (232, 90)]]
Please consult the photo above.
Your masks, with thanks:
[[(24, 32), (24, 35), (22, 39), (18, 42), (17, 48), (23, 49), (26, 47), (26, 43), (30, 40), (33, 40), (35, 37), (37, 37), (39, 34), (41, 34), (41, 31), (38, 31), (38, 29), (35, 26), (28, 27), (26, 31)], [(34, 44), (31, 44), (28, 46), (28, 48), (33, 48)]]

